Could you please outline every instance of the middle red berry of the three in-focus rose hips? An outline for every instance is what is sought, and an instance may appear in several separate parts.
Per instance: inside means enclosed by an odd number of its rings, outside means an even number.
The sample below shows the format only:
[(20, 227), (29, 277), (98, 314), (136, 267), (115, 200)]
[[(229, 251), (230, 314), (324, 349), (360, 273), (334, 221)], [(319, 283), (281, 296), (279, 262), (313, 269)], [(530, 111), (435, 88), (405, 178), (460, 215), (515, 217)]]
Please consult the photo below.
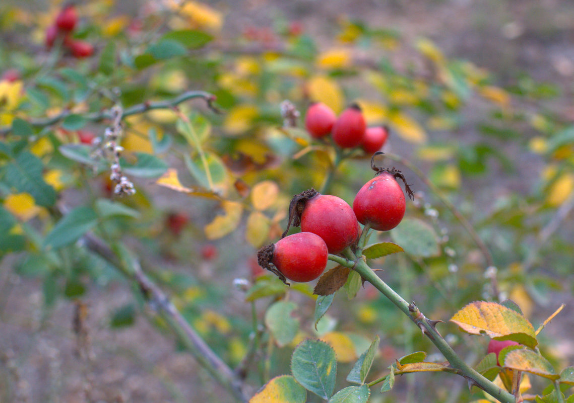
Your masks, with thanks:
[(305, 204), (301, 231), (317, 234), (329, 253), (339, 253), (359, 237), (359, 223), (351, 206), (340, 197), (317, 193)]

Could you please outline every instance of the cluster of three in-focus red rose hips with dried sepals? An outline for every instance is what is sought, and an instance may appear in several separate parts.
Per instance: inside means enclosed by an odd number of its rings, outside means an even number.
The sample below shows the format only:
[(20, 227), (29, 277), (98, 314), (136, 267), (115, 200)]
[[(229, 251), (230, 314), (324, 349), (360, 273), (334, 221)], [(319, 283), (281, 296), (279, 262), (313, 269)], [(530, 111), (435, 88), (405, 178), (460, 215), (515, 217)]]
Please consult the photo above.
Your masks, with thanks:
[[(305, 282), (316, 279), (327, 266), (328, 254), (337, 255), (353, 248), (360, 237), (360, 224), (379, 231), (395, 228), (405, 215), (405, 195), (396, 178), (402, 179), (409, 197), (413, 198), (404, 176), (395, 169), (375, 166), (373, 179), (358, 191), (351, 208), (342, 198), (305, 190), (291, 200), (287, 230), (281, 240), (267, 245), (257, 254), (261, 267), (281, 280)], [(300, 226), (301, 232), (286, 236), (289, 226)]]

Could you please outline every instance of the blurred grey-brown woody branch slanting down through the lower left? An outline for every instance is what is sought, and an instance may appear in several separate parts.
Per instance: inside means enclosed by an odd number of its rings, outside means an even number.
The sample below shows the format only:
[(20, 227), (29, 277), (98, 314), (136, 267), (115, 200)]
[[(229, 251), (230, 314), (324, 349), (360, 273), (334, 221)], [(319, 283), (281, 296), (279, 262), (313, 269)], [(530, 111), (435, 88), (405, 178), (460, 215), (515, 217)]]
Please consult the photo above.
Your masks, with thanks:
[(241, 402), (247, 402), (243, 394), (243, 382), (237, 375), (224, 363), (218, 355), (203, 341), (203, 339), (193, 330), (177, 308), (169, 300), (168, 296), (145, 275), (137, 260), (131, 262), (131, 267), (118, 259), (115, 253), (98, 237), (92, 233), (87, 233), (83, 237), (86, 246), (92, 252), (97, 253), (109, 261), (115, 267), (118, 267), (122, 274), (136, 281), (141, 289), (144, 298), (158, 311), (166, 320), (169, 326), (185, 343), (187, 349), (193, 357), (202, 365), (212, 377), (216, 379), (225, 389), (228, 390)]

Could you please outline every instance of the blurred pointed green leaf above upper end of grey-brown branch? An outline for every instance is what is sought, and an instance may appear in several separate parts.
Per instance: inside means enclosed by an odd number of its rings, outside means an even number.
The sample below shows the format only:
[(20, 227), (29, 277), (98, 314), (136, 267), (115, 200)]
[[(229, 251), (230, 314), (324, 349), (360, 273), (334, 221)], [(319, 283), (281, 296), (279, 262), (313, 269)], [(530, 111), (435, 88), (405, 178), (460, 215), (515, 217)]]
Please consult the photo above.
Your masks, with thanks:
[(43, 247), (57, 249), (77, 241), (98, 222), (98, 215), (86, 206), (80, 206), (61, 218), (46, 235)]

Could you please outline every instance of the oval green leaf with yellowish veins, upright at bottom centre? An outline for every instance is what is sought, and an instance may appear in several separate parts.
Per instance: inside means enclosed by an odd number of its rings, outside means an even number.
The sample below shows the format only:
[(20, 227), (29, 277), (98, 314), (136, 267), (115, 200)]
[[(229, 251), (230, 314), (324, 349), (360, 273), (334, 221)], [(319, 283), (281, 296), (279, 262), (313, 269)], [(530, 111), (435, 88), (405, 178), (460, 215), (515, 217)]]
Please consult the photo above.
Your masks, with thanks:
[(325, 342), (307, 339), (293, 351), (291, 371), (305, 389), (327, 400), (335, 389), (335, 350)]

